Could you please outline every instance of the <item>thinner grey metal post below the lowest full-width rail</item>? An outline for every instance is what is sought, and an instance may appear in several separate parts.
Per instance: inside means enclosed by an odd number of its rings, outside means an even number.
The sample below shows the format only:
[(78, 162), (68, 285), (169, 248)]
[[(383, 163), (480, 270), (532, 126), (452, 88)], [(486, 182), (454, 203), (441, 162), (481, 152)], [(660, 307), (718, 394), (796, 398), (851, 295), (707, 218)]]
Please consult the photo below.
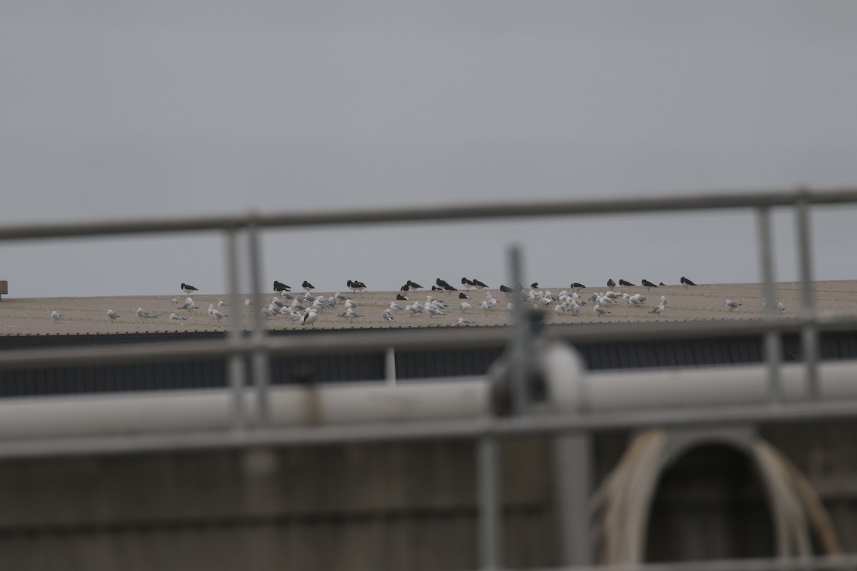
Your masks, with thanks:
[(502, 520), (500, 518), (500, 472), (497, 466), (497, 439), (476, 440), (476, 478), (479, 494), (479, 568), (496, 571), (502, 567)]

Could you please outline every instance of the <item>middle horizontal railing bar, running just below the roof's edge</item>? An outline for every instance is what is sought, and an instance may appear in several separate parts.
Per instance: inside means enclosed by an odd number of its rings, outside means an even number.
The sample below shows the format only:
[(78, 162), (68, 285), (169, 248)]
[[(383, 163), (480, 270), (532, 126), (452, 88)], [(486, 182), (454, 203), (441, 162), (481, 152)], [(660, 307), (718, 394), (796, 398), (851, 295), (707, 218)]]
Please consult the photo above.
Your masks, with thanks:
[[(759, 318), (752, 321), (687, 321), (628, 324), (552, 325), (545, 338), (571, 343), (691, 339), (720, 336), (754, 336), (768, 331), (796, 333), (805, 324), (800, 319)], [(818, 318), (813, 321), (819, 332), (857, 329), (857, 318)], [(182, 342), (135, 342), (123, 345), (86, 347), (9, 349), (0, 351), (0, 369), (12, 366), (85, 365), (99, 361), (144, 362), (181, 360), (195, 357), (225, 357), (228, 354), (327, 354), (331, 352), (369, 352), (408, 348), (452, 348), (466, 342), (469, 347), (496, 347), (508, 342), (511, 330), (503, 327), (432, 327), (411, 330), (362, 331), (362, 335), (323, 333), (317, 335), (243, 336)]]

